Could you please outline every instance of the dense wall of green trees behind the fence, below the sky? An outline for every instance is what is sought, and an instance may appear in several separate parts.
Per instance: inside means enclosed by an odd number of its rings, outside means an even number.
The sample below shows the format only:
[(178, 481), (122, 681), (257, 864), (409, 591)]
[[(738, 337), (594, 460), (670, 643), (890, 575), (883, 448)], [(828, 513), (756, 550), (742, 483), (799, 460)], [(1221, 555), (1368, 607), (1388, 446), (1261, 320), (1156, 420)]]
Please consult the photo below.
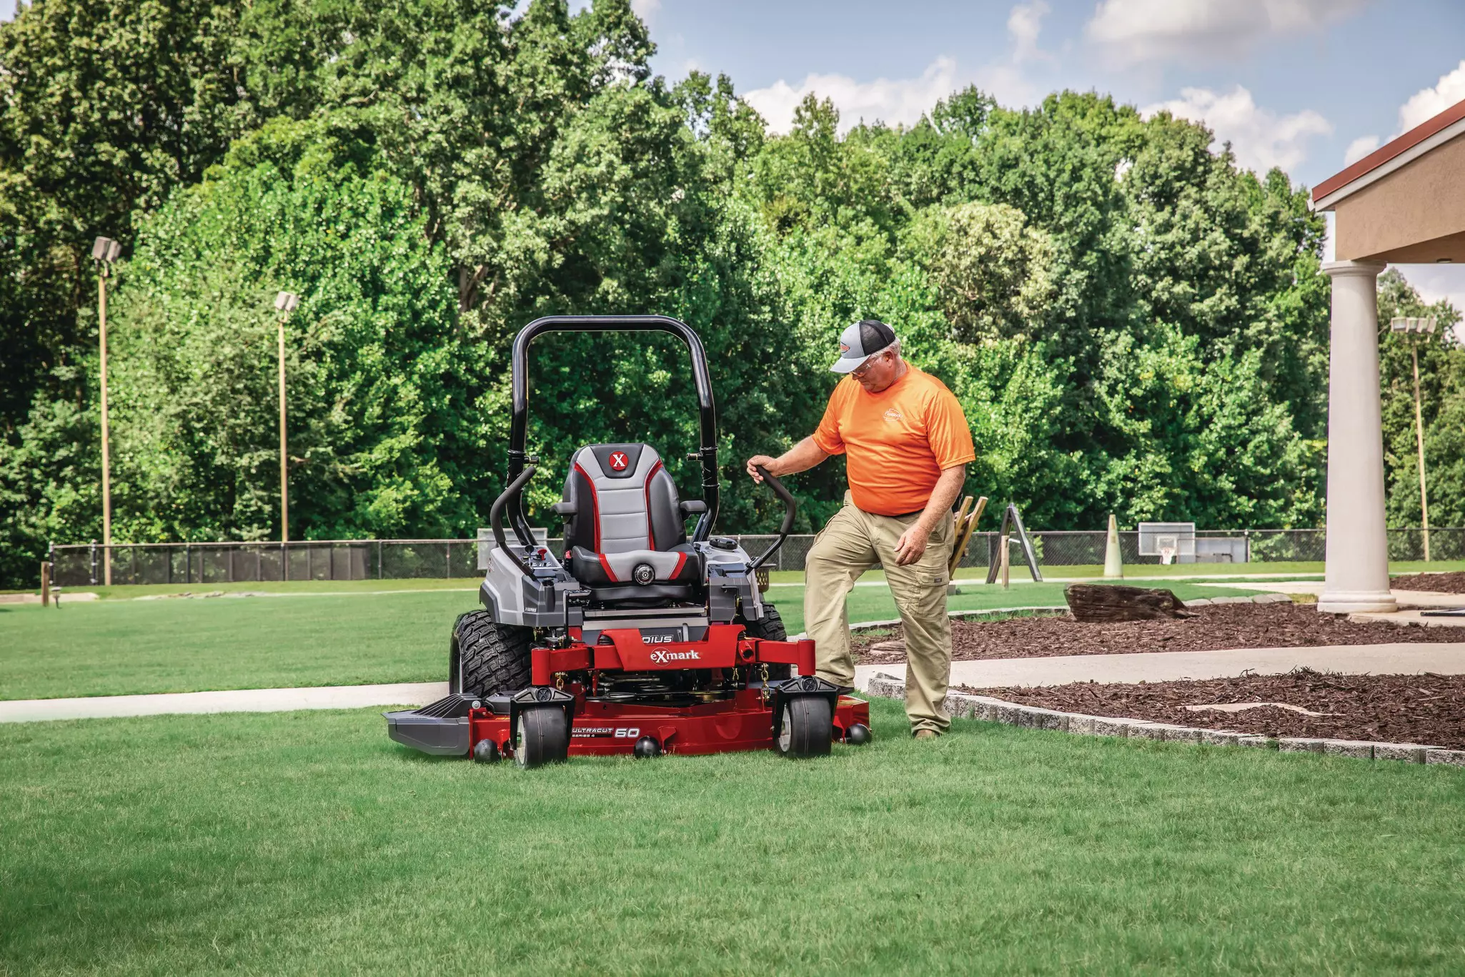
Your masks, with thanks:
[[(961, 400), (968, 491), (1031, 526), (1321, 521), (1329, 289), (1305, 187), (1093, 92), (1014, 110), (968, 88), (844, 135), (809, 97), (776, 135), (728, 78), (670, 85), (653, 53), (627, 0), (21, 6), (0, 23), (0, 574), (100, 536), (97, 234), (125, 245), (119, 542), (278, 533), (277, 290), (302, 297), (294, 538), (470, 535), (502, 486), (514, 331), (593, 312), (697, 330), (727, 480), (813, 429), (835, 337), (876, 316)], [(1423, 308), (1402, 278), (1380, 303)], [(1447, 333), (1421, 349), (1440, 475), (1465, 466), (1461, 354)], [(1389, 513), (1412, 523), (1401, 356)], [(694, 491), (670, 337), (548, 335), (530, 376), (557, 475), (579, 444), (646, 439)], [(793, 488), (813, 529), (842, 466)], [(1436, 524), (1465, 517), (1452, 492)], [(557, 495), (533, 486), (544, 521)], [(724, 497), (725, 530), (776, 519), (766, 494)]]

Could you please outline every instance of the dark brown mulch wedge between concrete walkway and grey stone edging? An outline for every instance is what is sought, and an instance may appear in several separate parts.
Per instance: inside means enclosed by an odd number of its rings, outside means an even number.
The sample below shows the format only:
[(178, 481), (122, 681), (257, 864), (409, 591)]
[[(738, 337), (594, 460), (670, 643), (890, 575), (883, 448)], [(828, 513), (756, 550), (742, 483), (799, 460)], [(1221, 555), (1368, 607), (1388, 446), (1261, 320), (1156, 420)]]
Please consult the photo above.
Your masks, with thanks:
[[(1420, 743), (1465, 750), (1465, 675), (1333, 675), (1297, 669), (1138, 686), (1075, 683), (1040, 688), (963, 688), (1027, 706), (1090, 716), (1124, 716), (1272, 737)], [(1242, 712), (1187, 705), (1280, 702), (1330, 716), (1264, 706)]]

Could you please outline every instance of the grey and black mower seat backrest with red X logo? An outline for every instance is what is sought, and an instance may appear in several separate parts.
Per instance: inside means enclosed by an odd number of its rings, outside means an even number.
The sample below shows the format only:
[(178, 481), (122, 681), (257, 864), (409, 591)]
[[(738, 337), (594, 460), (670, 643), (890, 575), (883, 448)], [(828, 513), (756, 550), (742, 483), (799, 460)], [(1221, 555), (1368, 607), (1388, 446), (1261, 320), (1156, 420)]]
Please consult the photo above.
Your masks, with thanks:
[(570, 458), (565, 551), (668, 551), (687, 542), (677, 485), (649, 444), (592, 444)]

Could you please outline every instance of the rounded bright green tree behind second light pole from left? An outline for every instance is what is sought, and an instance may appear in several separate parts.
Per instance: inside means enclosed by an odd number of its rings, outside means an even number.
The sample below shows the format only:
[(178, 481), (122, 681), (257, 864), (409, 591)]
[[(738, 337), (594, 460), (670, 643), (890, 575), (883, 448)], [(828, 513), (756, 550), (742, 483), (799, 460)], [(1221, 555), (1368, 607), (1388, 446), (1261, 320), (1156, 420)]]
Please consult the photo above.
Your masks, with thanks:
[(148, 218), (116, 303), (120, 539), (278, 533), (275, 290), (289, 322), (292, 535), (441, 535), (472, 356), (407, 186), (328, 119), (277, 123)]

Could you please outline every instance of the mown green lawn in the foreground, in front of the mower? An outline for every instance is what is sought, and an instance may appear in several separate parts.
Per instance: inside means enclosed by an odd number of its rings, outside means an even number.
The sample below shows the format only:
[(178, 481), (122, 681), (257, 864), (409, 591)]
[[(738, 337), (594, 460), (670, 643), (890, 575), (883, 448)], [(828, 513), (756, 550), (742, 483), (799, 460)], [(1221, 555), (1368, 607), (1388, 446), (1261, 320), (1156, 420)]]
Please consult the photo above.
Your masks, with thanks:
[(362, 712), (10, 727), (0, 973), (1461, 973), (1465, 776), (958, 721), (431, 759)]

